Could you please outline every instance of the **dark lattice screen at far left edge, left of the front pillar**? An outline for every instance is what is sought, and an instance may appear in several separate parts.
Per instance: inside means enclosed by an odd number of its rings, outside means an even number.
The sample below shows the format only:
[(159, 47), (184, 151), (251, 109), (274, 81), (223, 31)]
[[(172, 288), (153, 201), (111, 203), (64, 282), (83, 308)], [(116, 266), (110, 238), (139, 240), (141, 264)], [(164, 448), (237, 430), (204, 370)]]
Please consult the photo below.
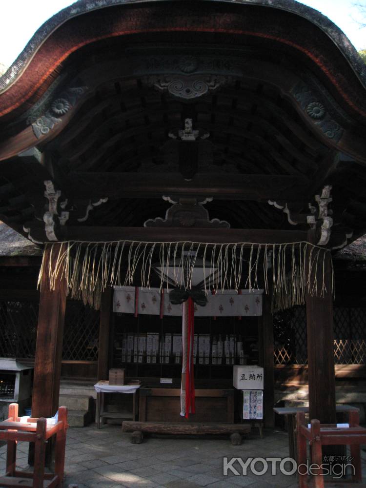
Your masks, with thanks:
[(0, 301), (0, 356), (33, 358), (36, 351), (38, 302)]

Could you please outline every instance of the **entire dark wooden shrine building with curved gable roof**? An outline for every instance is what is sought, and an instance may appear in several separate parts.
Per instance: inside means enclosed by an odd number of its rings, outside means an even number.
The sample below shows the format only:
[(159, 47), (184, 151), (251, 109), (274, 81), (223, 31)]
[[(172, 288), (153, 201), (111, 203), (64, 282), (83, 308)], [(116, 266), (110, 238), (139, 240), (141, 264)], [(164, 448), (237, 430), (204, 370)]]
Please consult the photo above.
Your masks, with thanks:
[(236, 423), (241, 366), (266, 427), (362, 415), (365, 133), (366, 65), (297, 1), (45, 22), (0, 78), (0, 356), (34, 368), (32, 416), (117, 368), (134, 420)]

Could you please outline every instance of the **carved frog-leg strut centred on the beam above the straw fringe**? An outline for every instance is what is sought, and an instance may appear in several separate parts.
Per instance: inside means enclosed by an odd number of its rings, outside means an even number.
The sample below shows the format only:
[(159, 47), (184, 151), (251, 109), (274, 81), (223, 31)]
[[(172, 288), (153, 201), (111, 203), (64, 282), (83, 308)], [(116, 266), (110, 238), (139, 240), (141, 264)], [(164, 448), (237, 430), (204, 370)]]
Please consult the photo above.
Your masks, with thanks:
[(228, 229), (230, 224), (225, 220), (210, 220), (208, 211), (203, 207), (204, 203), (211, 202), (212, 198), (198, 201), (196, 198), (180, 198), (179, 201), (170, 197), (163, 197), (173, 205), (168, 208), (165, 219), (157, 217), (147, 220), (144, 227), (200, 227)]

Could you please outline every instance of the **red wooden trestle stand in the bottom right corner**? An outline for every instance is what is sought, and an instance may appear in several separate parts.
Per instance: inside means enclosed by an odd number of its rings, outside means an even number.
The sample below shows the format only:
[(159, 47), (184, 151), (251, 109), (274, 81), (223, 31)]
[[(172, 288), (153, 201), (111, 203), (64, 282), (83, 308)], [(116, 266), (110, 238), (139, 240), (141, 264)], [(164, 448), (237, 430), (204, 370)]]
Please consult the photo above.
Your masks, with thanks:
[[(306, 464), (306, 442), (309, 443), (310, 449), (310, 464), (321, 466), (322, 446), (345, 445), (350, 446), (352, 462), (354, 467), (354, 474), (352, 480), (333, 480), (325, 481), (324, 476), (314, 475), (309, 477), (303, 471), (299, 473), (299, 487), (300, 488), (366, 488), (366, 484), (362, 483), (361, 472), (361, 453), (360, 444), (366, 444), (366, 428), (360, 427), (359, 412), (348, 412), (349, 427), (334, 427), (327, 424), (321, 424), (319, 420), (312, 420), (310, 428), (305, 424), (305, 413), (299, 412), (296, 415), (296, 430), (297, 430), (297, 452), (298, 452), (298, 466)], [(302, 471), (302, 469), (300, 469)]]

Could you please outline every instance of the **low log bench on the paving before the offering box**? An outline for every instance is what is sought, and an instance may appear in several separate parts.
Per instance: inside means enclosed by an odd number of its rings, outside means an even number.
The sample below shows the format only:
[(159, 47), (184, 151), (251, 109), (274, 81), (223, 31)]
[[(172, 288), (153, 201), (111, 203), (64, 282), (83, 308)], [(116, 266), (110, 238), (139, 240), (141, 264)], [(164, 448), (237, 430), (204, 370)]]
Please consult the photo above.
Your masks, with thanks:
[(123, 432), (132, 432), (131, 442), (140, 444), (143, 434), (230, 435), (231, 443), (242, 444), (242, 436), (251, 430), (249, 424), (194, 424), (183, 422), (122, 422)]

